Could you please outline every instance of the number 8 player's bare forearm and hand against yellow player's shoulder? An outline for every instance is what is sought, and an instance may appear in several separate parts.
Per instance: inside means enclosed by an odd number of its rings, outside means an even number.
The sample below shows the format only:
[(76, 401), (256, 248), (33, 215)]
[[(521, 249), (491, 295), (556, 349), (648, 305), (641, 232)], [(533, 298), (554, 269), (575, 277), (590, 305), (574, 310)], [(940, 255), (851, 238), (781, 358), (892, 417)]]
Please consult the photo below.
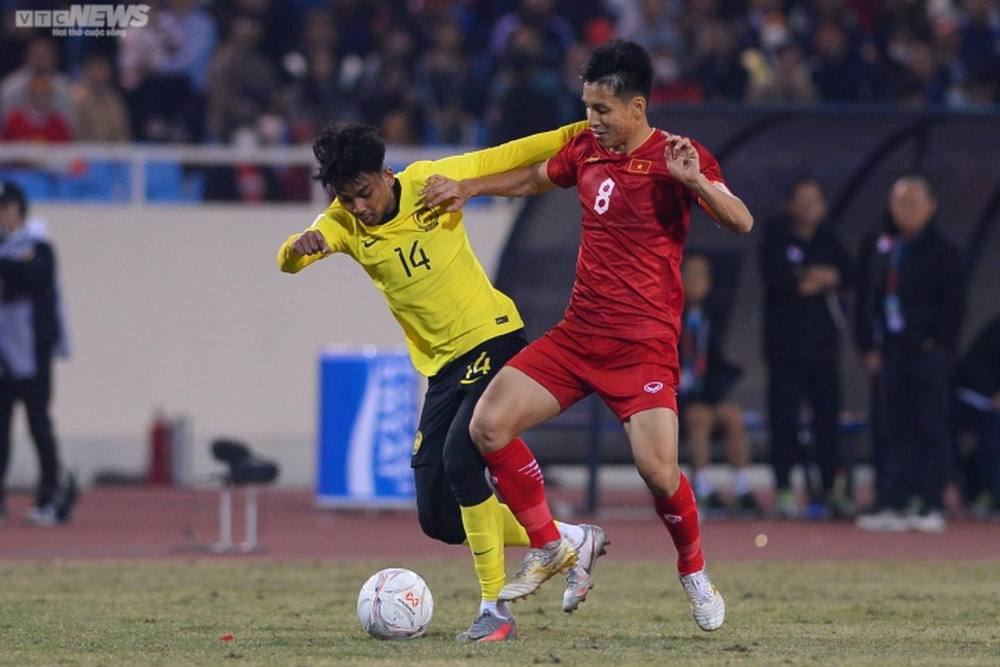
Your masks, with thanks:
[(434, 174), (420, 191), (424, 205), (434, 208), (448, 202), (445, 210), (454, 212), (465, 206), (473, 197), (526, 197), (552, 188), (545, 162), (512, 169), (492, 176), (455, 180)]

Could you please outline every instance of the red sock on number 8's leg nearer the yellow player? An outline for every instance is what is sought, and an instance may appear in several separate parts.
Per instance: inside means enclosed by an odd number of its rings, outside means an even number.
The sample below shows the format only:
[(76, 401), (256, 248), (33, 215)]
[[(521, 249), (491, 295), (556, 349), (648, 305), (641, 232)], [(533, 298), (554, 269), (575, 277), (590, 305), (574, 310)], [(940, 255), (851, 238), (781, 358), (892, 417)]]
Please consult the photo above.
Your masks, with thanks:
[(545, 480), (538, 461), (524, 440), (515, 438), (502, 449), (483, 454), (493, 483), (514, 517), (528, 532), (534, 548), (560, 538), (545, 502)]

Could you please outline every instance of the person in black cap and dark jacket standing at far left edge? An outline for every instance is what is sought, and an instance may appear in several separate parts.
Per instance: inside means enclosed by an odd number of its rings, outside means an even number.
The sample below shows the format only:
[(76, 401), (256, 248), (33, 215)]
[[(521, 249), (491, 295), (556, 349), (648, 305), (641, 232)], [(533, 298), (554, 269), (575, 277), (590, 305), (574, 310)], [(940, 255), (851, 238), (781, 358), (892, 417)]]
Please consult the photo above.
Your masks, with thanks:
[(72, 477), (61, 480), (49, 415), (52, 358), (65, 354), (55, 251), (41, 221), (27, 220), (28, 202), (15, 183), (0, 181), (0, 522), (6, 518), (4, 480), (10, 460), (14, 405), (24, 404), (38, 453), (40, 480), (25, 521), (53, 526), (70, 519)]

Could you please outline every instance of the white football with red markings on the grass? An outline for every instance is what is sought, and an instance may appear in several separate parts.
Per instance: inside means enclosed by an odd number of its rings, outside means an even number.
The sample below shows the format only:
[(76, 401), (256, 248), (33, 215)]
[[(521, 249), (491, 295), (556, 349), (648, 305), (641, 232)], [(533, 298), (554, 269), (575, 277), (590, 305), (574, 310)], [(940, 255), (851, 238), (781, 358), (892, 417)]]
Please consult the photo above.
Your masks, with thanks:
[(376, 572), (358, 595), (358, 619), (372, 637), (415, 639), (427, 632), (434, 598), (427, 582), (402, 567)]

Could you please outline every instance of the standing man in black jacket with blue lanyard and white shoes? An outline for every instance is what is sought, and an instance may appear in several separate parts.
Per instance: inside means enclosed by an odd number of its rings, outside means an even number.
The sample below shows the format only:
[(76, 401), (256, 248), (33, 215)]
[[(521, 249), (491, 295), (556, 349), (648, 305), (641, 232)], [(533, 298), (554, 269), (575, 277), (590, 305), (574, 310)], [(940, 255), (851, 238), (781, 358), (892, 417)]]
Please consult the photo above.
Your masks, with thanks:
[[(920, 174), (895, 181), (890, 225), (863, 247), (857, 343), (882, 392), (885, 433), (877, 510), (864, 530), (940, 532), (953, 459), (952, 374), (966, 277), (957, 246), (934, 224), (937, 199)], [(915, 501), (915, 506), (912, 504)]]

